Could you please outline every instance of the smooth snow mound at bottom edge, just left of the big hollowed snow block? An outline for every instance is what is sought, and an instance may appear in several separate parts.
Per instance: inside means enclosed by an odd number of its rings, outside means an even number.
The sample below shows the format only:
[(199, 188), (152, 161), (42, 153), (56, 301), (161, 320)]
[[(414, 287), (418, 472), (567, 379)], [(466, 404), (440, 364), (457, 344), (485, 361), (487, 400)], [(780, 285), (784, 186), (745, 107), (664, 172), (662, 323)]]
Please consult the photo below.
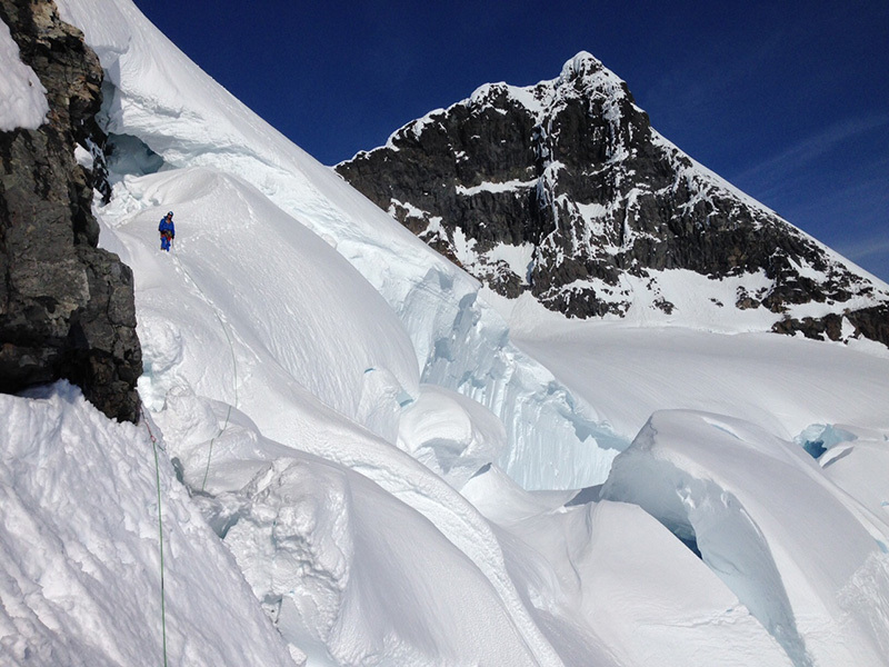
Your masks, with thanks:
[(566, 505), (570, 496), (529, 494), (496, 469), (463, 494), (497, 525), (507, 565), (566, 664), (791, 664), (700, 559), (639, 507)]

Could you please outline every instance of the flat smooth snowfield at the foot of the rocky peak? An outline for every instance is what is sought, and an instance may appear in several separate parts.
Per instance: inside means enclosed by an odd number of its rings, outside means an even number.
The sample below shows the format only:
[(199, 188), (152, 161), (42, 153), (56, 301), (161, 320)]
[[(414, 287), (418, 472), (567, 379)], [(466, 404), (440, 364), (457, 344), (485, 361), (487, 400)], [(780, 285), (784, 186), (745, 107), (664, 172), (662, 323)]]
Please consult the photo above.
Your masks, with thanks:
[(488, 291), (485, 297), (498, 303), (520, 349), (628, 439), (662, 409), (719, 412), (783, 439), (818, 424), (889, 436), (881, 409), (889, 405), (889, 354), (881, 346), (571, 322), (532, 299), (505, 303)]

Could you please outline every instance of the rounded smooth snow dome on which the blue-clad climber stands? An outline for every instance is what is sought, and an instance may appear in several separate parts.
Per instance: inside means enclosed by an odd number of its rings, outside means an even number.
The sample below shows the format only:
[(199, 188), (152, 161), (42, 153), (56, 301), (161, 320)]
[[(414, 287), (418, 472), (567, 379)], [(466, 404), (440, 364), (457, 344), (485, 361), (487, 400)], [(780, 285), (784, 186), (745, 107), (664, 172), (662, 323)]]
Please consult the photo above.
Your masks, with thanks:
[[(172, 253), (158, 220), (174, 209)], [(299, 386), (390, 441), (418, 394), (407, 332), (337, 251), (241, 180), (208, 169), (128, 178), (100, 210), (104, 242), (136, 268), (142, 395), (158, 409), (179, 378), (254, 419)], [(220, 268), (224, 267), (220, 273)], [(222, 362), (222, 377), (203, 369)]]

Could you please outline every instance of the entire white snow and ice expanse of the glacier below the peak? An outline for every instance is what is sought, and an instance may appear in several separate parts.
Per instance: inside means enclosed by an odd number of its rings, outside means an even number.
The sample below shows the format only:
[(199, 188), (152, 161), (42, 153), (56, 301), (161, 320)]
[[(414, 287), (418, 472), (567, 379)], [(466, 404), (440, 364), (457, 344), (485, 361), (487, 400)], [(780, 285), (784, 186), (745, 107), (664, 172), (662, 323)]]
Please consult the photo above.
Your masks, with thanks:
[(885, 349), (505, 302), (129, 0), (59, 4), (146, 418), (0, 396), (0, 664), (889, 664)]

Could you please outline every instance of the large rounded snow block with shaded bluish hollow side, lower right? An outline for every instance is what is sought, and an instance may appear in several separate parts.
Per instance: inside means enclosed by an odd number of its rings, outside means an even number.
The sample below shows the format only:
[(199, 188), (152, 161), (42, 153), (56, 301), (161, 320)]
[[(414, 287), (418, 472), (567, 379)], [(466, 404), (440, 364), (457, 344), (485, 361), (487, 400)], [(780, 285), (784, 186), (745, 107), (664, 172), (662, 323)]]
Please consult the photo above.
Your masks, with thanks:
[(830, 484), (800, 447), (728, 417), (658, 412), (615, 460), (601, 494), (695, 541), (795, 665), (885, 656), (889, 634), (875, 619), (888, 610), (889, 524)]

